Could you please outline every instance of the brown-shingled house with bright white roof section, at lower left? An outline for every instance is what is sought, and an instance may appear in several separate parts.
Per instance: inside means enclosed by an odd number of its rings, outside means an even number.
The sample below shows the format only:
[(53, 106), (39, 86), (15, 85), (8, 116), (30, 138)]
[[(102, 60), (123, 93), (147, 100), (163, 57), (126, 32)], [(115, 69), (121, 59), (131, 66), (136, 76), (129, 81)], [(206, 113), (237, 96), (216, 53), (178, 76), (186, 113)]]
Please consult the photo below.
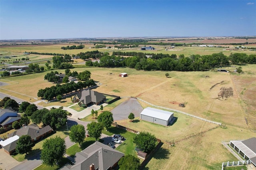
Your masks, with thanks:
[[(22, 128), (18, 129), (14, 133), (7, 135), (7, 137), (9, 138), (6, 140), (10, 140), (10, 142), (8, 142), (8, 145), (2, 146), (2, 147), (4, 148), (4, 151), (6, 153), (11, 155), (16, 149), (16, 145), (19, 137), (21, 137), (22, 135), (29, 135), (32, 139), (31, 141), (35, 142), (42, 139), (46, 135), (52, 133), (52, 131), (53, 130), (49, 125), (43, 128), (39, 128), (34, 123), (32, 125), (23, 126)], [(18, 137), (18, 139), (16, 139), (15, 137)]]

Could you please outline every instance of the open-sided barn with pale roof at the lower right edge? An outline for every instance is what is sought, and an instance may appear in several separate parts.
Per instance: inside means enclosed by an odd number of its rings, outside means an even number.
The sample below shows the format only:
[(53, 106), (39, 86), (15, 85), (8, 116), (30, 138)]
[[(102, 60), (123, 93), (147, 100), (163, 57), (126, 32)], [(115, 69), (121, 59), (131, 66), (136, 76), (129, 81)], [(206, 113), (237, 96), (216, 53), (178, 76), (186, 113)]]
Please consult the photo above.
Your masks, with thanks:
[(230, 141), (229, 145), (245, 160), (250, 160), (256, 166), (256, 137), (244, 141)]

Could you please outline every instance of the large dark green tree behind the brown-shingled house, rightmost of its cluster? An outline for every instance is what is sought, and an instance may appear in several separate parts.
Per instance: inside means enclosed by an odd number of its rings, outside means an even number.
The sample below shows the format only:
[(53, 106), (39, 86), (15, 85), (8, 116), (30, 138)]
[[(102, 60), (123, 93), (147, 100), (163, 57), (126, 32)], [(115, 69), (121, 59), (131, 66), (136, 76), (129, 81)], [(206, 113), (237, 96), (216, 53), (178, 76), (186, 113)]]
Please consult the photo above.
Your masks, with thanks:
[(67, 122), (67, 113), (62, 109), (51, 109), (42, 117), (44, 125), (50, 125), (52, 129), (58, 129)]

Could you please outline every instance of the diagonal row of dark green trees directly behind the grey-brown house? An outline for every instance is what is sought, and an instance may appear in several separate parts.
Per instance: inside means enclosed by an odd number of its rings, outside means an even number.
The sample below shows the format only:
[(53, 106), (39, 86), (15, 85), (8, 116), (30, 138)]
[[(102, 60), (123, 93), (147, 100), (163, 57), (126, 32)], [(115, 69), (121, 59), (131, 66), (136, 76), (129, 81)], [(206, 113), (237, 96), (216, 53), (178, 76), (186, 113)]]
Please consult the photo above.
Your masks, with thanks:
[(91, 86), (95, 86), (96, 84), (92, 79), (86, 80), (84, 82), (70, 82), (66, 84), (57, 84), (56, 86), (52, 86), (50, 88), (40, 89), (38, 90), (37, 96), (44, 98), (46, 100), (53, 100), (58, 95), (68, 94), (70, 92), (76, 91), (76, 90), (82, 90), (84, 88), (88, 88)]

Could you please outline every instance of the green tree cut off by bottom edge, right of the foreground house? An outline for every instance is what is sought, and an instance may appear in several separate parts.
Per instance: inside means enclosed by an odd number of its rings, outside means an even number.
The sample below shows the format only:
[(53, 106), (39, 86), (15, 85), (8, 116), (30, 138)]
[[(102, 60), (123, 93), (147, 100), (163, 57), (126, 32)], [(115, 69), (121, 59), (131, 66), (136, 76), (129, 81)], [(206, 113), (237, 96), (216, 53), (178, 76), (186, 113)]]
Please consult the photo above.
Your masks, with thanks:
[(140, 160), (130, 154), (122, 157), (118, 162), (120, 170), (139, 170)]

